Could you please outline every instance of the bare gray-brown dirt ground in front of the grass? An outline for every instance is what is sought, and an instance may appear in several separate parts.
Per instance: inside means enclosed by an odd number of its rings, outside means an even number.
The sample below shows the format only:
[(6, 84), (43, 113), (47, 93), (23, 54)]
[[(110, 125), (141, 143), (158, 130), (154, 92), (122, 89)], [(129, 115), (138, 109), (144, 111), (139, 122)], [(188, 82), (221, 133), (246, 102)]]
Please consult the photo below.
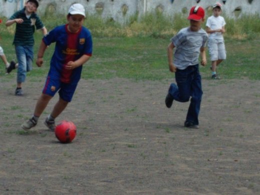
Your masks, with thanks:
[(202, 80), (200, 128), (183, 127), (189, 103), (164, 104), (172, 80), (81, 80), (57, 118), (77, 125), (60, 143), (32, 131), (44, 78), (15, 96), (0, 77), (0, 194), (260, 194), (260, 81)]

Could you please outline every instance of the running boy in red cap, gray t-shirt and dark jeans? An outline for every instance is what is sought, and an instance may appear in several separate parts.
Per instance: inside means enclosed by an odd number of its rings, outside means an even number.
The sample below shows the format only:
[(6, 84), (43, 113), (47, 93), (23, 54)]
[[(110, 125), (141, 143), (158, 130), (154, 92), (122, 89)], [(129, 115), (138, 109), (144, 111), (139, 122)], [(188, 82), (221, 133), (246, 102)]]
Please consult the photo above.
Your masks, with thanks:
[[(171, 83), (165, 104), (171, 107), (173, 100), (180, 102), (189, 101), (185, 127), (198, 128), (198, 114), (202, 97), (201, 76), (198, 67), (198, 58), (201, 57), (201, 65), (206, 65), (205, 44), (208, 35), (201, 28), (205, 11), (201, 6), (193, 6), (190, 9), (188, 19), (190, 26), (182, 28), (167, 48), (169, 69), (175, 72), (176, 83)], [(173, 59), (173, 48), (174, 59)]]

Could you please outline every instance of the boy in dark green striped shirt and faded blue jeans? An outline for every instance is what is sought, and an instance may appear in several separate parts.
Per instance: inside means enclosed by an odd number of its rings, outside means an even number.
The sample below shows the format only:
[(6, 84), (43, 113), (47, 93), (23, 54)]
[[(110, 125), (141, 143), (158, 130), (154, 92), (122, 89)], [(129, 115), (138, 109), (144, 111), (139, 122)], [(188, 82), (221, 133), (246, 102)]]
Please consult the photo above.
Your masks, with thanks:
[[(46, 27), (36, 14), (38, 6), (39, 2), (37, 0), (28, 0), (23, 9), (15, 12), (10, 19), (6, 21), (6, 26), (16, 23), (16, 33), (13, 41), (18, 59), (17, 88), (15, 95), (24, 94), (22, 83), (26, 80), (26, 73), (32, 70), (35, 28), (41, 29), (44, 35), (47, 34)], [(12, 69), (15, 68), (15, 66), (12, 66)]]

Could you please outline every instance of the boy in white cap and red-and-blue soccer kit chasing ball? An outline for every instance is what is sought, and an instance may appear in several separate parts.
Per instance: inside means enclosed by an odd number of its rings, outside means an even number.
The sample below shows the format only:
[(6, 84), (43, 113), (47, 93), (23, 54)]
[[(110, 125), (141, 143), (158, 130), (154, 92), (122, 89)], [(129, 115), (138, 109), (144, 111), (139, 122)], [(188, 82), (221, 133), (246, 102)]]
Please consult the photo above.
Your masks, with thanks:
[(52, 42), (56, 42), (55, 51), (34, 115), (22, 124), (23, 129), (29, 130), (37, 124), (49, 101), (56, 92), (59, 92), (60, 98), (44, 122), (49, 130), (54, 131), (55, 118), (72, 100), (81, 77), (82, 66), (92, 55), (91, 33), (82, 26), (85, 16), (85, 8), (82, 4), (72, 4), (67, 15), (68, 23), (54, 28), (43, 37), (36, 64), (39, 67), (43, 65), (45, 49)]

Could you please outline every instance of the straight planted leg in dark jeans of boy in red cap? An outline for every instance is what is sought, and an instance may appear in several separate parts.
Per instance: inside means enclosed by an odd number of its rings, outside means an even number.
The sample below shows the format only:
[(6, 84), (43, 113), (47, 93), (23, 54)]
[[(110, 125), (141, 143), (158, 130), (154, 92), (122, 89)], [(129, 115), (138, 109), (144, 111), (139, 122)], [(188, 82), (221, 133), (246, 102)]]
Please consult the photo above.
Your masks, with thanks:
[[(191, 99), (185, 122), (190, 122), (193, 125), (198, 125), (198, 114), (202, 98), (201, 76), (199, 71), (194, 72), (194, 78), (191, 83)], [(191, 127), (191, 126), (190, 126)]]

